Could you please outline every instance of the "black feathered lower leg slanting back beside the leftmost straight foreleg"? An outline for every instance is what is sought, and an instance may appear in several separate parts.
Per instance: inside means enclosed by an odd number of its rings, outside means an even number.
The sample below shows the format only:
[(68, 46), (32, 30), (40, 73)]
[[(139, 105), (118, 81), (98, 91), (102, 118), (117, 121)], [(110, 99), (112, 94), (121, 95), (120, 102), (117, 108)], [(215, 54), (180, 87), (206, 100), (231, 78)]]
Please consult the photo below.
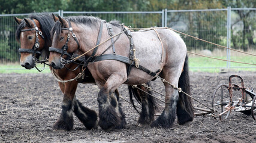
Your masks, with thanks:
[(85, 125), (86, 129), (97, 128), (97, 113), (94, 110), (85, 107), (79, 100), (74, 98), (73, 111), (78, 119)]

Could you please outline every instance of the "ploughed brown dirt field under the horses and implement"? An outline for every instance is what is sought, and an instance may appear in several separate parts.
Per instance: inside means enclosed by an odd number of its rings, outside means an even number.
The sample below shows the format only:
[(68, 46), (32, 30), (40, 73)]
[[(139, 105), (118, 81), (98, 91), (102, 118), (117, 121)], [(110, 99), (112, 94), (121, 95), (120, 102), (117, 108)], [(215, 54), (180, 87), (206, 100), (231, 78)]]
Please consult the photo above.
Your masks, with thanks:
[[(211, 97), (220, 83), (228, 84), (228, 77), (243, 77), (245, 87), (256, 89), (256, 72), (190, 73), (192, 96), (210, 107)], [(159, 80), (153, 82), (163, 92)], [(87, 107), (98, 110), (96, 85), (79, 84), (76, 97)], [(119, 92), (128, 100), (127, 85)], [(156, 95), (156, 94), (155, 94)], [(156, 95), (160, 98), (159, 95)], [(255, 142), (256, 122), (251, 116), (231, 112), (222, 122), (210, 116), (197, 116), (189, 126), (177, 123), (173, 128), (138, 127), (138, 113), (121, 100), (127, 118), (127, 129), (86, 130), (74, 116), (70, 132), (52, 130), (61, 113), (62, 92), (52, 74), (0, 74), (0, 142)], [(163, 98), (162, 98), (163, 99)], [(198, 103), (193, 101), (195, 107)], [(159, 105), (163, 104), (159, 102)]]

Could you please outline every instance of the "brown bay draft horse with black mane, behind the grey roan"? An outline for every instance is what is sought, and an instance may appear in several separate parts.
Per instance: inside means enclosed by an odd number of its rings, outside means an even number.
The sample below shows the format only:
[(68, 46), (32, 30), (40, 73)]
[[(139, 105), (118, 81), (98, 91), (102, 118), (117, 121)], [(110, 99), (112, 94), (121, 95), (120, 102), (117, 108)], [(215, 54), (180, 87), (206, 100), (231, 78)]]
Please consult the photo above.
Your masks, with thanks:
[[(43, 55), (46, 55), (46, 58), (49, 58), (49, 46), (52, 45), (50, 30), (52, 29), (56, 20), (58, 20), (58, 17), (50, 14), (32, 14), (29, 15), (28, 18), (24, 19), (15, 17), (15, 21), (17, 24), (19, 24), (16, 30), (16, 40), (20, 42), (21, 45), (21, 48), (19, 49), (21, 55), (21, 66), (25, 67), (26, 69), (32, 69), (35, 67), (35, 61), (33, 58), (38, 59)], [(55, 70), (50, 67), (50, 70), (54, 70), (55, 74), (61, 78), (61, 80), (73, 79), (77, 76), (77, 74), (80, 73), (81, 66), (74, 71), (68, 70), (75, 69), (77, 67), (76, 63), (71, 63), (66, 66), (67, 68), (61, 70)], [(85, 107), (79, 100), (76, 99), (75, 96), (78, 83), (95, 83), (91, 72), (86, 69), (84, 79), (80, 79), (79, 81), (73, 80), (72, 82), (58, 83), (64, 97), (62, 100), (61, 115), (59, 116), (58, 121), (53, 125), (53, 129), (73, 129), (74, 121), (72, 111), (87, 129), (96, 128), (98, 118), (97, 113), (94, 110)], [(147, 84), (150, 85), (150, 83)], [(140, 86), (140, 88), (151, 93), (151, 91), (147, 91), (147, 89), (143, 88), (143, 86)], [(136, 100), (142, 103), (142, 110), (140, 112), (138, 124), (141, 126), (149, 125), (154, 120), (156, 110), (155, 100), (149, 95), (144, 94), (144, 92), (131, 88), (131, 86), (128, 86), (128, 89), (132, 103), (132, 95), (134, 95)], [(118, 89), (113, 92), (115, 92), (115, 96), (119, 101)], [(119, 123), (116, 128), (125, 128), (125, 114), (122, 112), (120, 104), (118, 111), (119, 114), (121, 114), (121, 123)]]

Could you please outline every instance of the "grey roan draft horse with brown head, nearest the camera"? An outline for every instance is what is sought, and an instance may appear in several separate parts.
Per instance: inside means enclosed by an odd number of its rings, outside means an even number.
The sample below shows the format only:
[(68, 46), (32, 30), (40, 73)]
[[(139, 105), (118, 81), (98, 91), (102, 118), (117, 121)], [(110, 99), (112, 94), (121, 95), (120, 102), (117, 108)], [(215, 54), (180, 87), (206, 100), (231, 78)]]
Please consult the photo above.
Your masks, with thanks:
[[(111, 24), (114, 35), (118, 35), (124, 30), (123, 26), (117, 22)], [(87, 67), (100, 88), (97, 98), (99, 126), (104, 130), (111, 130), (119, 124), (120, 114), (116, 109), (118, 101), (113, 96), (113, 91), (123, 83), (138, 85), (149, 82), (159, 75), (171, 85), (179, 86), (189, 94), (186, 45), (177, 33), (168, 29), (125, 31), (127, 33), (122, 32), (119, 39), (117, 39), (118, 37), (114, 38), (116, 54), (113, 54), (113, 49), (109, 48), (113, 42), (107, 41), (109, 38), (107, 23), (100, 18), (92, 16), (59, 17), (59, 21), (56, 21), (51, 32), (53, 38), (51, 48), (62, 49), (66, 43), (68, 53), (80, 51), (85, 53), (86, 57), (92, 57)], [(76, 39), (72, 37), (68, 39), (68, 35), (73, 33), (76, 34)], [(98, 39), (107, 42), (101, 43), (98, 48), (95, 48)], [(94, 50), (92, 50), (93, 47)], [(134, 53), (132, 54), (132, 52)], [(60, 55), (58, 52), (50, 51), (49, 63), (55, 69), (63, 68)], [(100, 58), (101, 60), (97, 60)], [(138, 62), (137, 65), (135, 65), (135, 58)], [(129, 63), (131, 60), (133, 64)], [(130, 71), (129, 67), (131, 67)], [(152, 74), (153, 72), (156, 74)], [(191, 123), (194, 119), (191, 98), (182, 92), (179, 93), (167, 82), (164, 82), (164, 85), (164, 110), (150, 126), (170, 128), (176, 119), (176, 114), (180, 125)]]

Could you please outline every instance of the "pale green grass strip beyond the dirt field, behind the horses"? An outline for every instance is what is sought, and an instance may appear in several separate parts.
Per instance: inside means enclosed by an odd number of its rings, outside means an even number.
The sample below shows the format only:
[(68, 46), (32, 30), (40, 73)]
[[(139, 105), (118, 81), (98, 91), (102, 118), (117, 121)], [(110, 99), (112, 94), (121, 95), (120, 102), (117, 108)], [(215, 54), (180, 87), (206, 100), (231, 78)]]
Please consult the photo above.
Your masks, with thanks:
[[(209, 53), (202, 53), (202, 51), (191, 51), (203, 55)], [(248, 51), (249, 53), (256, 54), (256, 51)], [(189, 57), (189, 70), (190, 71), (205, 71), (218, 73), (222, 69), (225, 71), (256, 71), (256, 66), (249, 64), (239, 64), (239, 63), (230, 63), (230, 69), (227, 68), (226, 61), (214, 60), (206, 57), (199, 57), (193, 54), (188, 54)], [(226, 60), (226, 51), (215, 49), (210, 53), (209, 57), (221, 58)], [(256, 64), (256, 57), (252, 55), (240, 54), (239, 52), (231, 51), (231, 61), (239, 61), (243, 63)], [(37, 65), (38, 69), (43, 69), (43, 64)], [(38, 73), (37, 69), (26, 70), (24, 67), (20, 66), (19, 63), (8, 63), (0, 64), (0, 73)], [(41, 73), (50, 73), (49, 66), (46, 66), (44, 71)]]

